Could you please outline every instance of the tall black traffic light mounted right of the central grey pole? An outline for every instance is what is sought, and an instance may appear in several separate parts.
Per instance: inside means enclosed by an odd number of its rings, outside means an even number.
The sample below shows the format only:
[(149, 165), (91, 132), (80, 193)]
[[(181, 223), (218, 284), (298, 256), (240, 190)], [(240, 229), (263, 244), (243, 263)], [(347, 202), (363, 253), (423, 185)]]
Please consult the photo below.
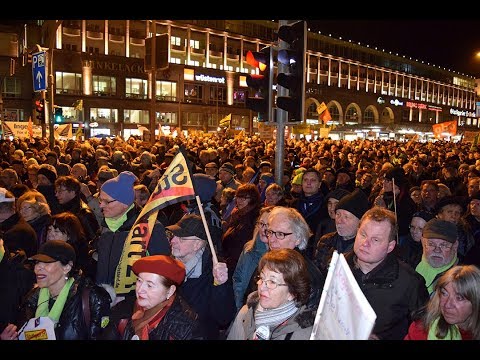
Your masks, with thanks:
[(288, 66), (288, 73), (279, 72), (277, 84), (288, 89), (288, 96), (277, 97), (277, 107), (288, 111), (288, 122), (303, 122), (305, 115), (305, 63), (307, 23), (280, 26), (278, 37), (288, 44), (278, 51), (278, 61)]

